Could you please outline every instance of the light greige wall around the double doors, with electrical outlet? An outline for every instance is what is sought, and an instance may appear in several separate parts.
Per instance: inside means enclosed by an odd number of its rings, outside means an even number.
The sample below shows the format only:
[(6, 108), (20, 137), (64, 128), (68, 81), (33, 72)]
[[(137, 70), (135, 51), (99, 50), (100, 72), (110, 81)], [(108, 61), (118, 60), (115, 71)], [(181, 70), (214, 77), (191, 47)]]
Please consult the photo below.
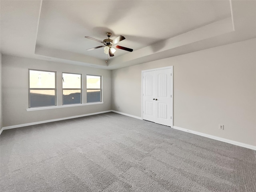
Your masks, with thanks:
[(174, 66), (174, 126), (256, 146), (255, 53), (254, 38), (113, 70), (112, 109), (140, 117), (141, 71)]

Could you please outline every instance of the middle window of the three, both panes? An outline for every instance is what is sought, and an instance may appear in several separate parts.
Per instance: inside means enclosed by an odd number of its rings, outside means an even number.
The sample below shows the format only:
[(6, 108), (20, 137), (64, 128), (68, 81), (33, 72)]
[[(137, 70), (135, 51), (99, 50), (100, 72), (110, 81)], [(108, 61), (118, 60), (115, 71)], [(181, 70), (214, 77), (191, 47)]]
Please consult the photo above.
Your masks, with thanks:
[(82, 103), (82, 74), (62, 73), (63, 105)]

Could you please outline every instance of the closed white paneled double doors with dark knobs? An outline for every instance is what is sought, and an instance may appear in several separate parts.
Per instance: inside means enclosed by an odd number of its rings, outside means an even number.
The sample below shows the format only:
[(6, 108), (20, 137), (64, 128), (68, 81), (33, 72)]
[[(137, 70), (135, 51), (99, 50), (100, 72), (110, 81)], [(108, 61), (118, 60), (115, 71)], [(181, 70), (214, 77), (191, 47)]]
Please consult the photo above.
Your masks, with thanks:
[(173, 126), (172, 66), (142, 71), (142, 116), (144, 120)]

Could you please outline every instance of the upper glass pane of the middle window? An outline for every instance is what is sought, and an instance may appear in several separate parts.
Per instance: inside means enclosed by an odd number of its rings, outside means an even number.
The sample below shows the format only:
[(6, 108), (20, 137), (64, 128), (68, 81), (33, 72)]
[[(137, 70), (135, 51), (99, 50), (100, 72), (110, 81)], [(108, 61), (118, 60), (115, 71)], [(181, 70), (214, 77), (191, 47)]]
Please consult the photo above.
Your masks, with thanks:
[(62, 73), (62, 88), (80, 89), (81, 74)]

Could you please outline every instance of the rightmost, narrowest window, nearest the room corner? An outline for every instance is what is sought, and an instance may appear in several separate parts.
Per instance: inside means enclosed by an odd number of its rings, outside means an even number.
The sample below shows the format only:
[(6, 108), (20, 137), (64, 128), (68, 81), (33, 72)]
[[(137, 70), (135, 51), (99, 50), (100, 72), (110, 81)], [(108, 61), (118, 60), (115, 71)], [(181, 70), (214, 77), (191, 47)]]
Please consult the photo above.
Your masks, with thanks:
[(87, 103), (101, 102), (101, 76), (87, 75)]

